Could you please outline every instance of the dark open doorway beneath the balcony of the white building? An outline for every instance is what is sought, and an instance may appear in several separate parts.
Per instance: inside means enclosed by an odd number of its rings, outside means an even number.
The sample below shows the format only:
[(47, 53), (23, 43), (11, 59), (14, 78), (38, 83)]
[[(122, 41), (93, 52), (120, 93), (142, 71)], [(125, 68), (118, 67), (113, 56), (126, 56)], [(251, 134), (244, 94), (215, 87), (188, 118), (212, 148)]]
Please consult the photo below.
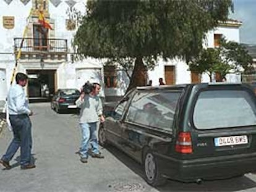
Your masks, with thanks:
[(56, 91), (56, 70), (27, 70), (28, 97), (50, 99)]

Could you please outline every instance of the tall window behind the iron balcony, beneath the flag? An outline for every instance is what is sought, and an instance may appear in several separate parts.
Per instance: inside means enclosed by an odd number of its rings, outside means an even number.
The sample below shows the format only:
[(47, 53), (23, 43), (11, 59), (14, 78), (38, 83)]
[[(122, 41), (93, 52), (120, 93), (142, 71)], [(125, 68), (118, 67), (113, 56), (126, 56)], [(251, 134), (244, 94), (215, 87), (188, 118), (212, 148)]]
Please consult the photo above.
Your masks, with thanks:
[(47, 51), (48, 49), (48, 29), (41, 25), (33, 25), (34, 49)]

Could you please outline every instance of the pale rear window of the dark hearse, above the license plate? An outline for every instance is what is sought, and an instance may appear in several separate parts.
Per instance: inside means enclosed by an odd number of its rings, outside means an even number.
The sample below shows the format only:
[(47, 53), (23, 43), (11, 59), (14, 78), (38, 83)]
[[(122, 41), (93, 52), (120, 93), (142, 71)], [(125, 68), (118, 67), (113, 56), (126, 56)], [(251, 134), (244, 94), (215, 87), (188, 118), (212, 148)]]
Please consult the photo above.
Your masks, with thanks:
[(256, 125), (254, 99), (246, 90), (202, 91), (195, 103), (194, 125), (200, 130)]

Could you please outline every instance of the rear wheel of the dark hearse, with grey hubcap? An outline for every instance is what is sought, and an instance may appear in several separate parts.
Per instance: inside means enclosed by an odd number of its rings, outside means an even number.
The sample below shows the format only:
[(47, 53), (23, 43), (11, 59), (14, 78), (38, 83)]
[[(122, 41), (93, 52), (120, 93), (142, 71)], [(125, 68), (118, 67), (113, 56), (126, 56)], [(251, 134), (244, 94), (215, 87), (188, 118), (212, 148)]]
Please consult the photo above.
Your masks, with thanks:
[(158, 169), (157, 159), (150, 150), (148, 150), (144, 156), (144, 171), (148, 184), (152, 186), (160, 186), (164, 185), (166, 182), (166, 178), (161, 176)]

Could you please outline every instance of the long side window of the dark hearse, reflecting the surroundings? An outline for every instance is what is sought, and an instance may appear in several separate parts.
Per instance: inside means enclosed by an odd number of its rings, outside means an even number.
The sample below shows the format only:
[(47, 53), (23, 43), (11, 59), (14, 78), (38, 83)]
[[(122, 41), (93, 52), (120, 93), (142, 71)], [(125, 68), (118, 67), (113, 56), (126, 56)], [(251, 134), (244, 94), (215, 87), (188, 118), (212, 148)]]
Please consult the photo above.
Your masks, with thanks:
[(126, 120), (171, 130), (180, 91), (145, 91), (135, 94)]

